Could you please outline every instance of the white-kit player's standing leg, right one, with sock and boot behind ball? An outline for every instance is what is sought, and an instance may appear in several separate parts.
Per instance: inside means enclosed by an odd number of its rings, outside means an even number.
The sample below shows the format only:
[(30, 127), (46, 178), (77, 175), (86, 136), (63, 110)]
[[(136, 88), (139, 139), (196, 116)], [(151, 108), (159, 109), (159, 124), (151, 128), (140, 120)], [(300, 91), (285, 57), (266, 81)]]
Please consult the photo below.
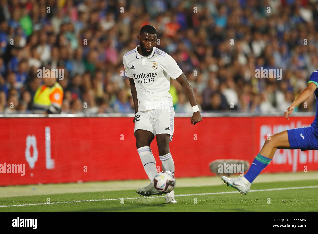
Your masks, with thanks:
[[(170, 134), (157, 134), (156, 137), (159, 158), (162, 162), (162, 170), (170, 171), (174, 175), (175, 163), (169, 150)], [(166, 194), (166, 203), (177, 203), (173, 190)]]

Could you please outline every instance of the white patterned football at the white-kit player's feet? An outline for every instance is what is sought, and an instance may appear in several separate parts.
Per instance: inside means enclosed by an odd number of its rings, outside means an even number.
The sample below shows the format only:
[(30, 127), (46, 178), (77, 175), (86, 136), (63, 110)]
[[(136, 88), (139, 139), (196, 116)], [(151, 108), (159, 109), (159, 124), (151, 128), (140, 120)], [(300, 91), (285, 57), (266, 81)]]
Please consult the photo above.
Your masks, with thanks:
[(162, 193), (170, 193), (176, 186), (176, 179), (169, 171), (159, 172), (154, 178), (154, 187)]

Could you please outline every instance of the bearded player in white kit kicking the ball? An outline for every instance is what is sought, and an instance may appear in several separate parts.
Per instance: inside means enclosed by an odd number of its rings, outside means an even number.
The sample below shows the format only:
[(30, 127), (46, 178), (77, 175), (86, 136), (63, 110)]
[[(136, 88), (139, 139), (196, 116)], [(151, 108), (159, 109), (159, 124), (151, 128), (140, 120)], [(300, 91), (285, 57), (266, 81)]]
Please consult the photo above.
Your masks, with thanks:
[[(153, 186), (157, 174), (156, 160), (150, 143), (156, 137), (162, 169), (175, 173), (175, 165), (169, 150), (174, 130), (174, 115), (170, 90), (170, 77), (183, 87), (193, 115), (191, 124), (202, 121), (197, 101), (187, 78), (176, 61), (167, 53), (155, 47), (156, 28), (145, 25), (138, 35), (140, 44), (123, 56), (125, 74), (129, 77), (130, 89), (135, 104), (134, 135), (143, 168), (151, 183), (136, 192), (143, 196), (160, 195)], [(166, 203), (177, 203), (174, 191), (166, 194)]]

